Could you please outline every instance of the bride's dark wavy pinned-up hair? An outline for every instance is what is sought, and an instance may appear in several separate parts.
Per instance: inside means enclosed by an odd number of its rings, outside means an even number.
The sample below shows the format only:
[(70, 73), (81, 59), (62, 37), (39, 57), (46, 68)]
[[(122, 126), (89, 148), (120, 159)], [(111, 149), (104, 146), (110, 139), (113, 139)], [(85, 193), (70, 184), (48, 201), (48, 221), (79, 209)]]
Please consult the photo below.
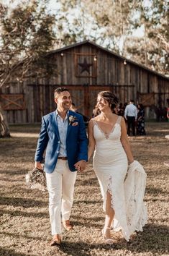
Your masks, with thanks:
[(111, 111), (115, 113), (114, 108), (117, 107), (117, 103), (119, 102), (117, 96), (114, 95), (114, 93), (111, 93), (109, 90), (103, 90), (98, 95), (101, 96), (101, 98), (104, 98), (109, 103)]

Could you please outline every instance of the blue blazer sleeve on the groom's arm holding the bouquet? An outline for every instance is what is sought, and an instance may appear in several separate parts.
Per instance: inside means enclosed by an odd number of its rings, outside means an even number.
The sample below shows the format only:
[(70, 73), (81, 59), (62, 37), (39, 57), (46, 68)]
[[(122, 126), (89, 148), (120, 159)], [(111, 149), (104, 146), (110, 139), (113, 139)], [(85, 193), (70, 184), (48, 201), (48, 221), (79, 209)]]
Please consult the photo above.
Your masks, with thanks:
[(35, 161), (40, 162), (43, 160), (43, 153), (45, 152), (45, 148), (47, 147), (48, 140), (49, 137), (47, 133), (47, 124), (44, 117), (42, 117), (40, 137), (37, 141), (37, 149), (35, 153)]

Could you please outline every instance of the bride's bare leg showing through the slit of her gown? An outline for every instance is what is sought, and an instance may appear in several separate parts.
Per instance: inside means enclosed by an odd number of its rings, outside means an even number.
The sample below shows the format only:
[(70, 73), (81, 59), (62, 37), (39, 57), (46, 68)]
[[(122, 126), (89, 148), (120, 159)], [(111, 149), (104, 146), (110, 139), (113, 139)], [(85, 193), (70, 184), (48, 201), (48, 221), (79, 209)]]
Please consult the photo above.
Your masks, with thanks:
[(109, 191), (106, 193), (106, 216), (105, 216), (105, 223), (104, 223), (104, 235), (106, 236), (106, 239), (111, 238), (110, 233), (110, 227), (111, 223), (114, 218), (114, 209), (112, 208), (112, 202), (111, 202), (112, 195)]

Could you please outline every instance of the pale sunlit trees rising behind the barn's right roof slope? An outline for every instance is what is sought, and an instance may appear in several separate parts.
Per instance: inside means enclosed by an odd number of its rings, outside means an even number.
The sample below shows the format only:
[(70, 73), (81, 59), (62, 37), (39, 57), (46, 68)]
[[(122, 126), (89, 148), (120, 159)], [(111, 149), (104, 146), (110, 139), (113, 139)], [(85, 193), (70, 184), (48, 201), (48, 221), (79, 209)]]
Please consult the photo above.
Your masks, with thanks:
[[(168, 0), (60, 0), (60, 4), (69, 43), (87, 38), (168, 74)], [(138, 28), (143, 35), (136, 37)]]

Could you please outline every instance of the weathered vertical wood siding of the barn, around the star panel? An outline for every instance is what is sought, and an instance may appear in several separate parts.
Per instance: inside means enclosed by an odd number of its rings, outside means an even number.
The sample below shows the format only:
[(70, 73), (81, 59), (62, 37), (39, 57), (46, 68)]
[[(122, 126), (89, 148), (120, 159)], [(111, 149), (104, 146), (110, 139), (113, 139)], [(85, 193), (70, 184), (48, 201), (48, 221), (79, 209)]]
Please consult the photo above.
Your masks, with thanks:
[[(96, 77), (76, 76), (76, 54), (96, 56)], [(137, 103), (138, 93), (155, 93), (155, 105), (167, 106), (169, 98), (167, 78), (129, 61), (124, 64), (124, 59), (94, 47), (90, 43), (55, 51), (49, 56), (51, 61), (57, 65), (57, 76), (50, 79), (31, 78), (24, 82), (14, 83), (8, 88), (1, 88), (0, 94), (20, 93), (24, 95), (24, 110), (6, 111), (9, 123), (39, 122), (43, 115), (55, 109), (53, 92), (59, 86), (70, 89), (78, 111), (88, 116), (91, 116), (96, 104), (97, 93), (105, 89), (112, 90), (122, 103), (130, 99)], [(150, 107), (147, 107), (146, 113), (149, 117)]]

